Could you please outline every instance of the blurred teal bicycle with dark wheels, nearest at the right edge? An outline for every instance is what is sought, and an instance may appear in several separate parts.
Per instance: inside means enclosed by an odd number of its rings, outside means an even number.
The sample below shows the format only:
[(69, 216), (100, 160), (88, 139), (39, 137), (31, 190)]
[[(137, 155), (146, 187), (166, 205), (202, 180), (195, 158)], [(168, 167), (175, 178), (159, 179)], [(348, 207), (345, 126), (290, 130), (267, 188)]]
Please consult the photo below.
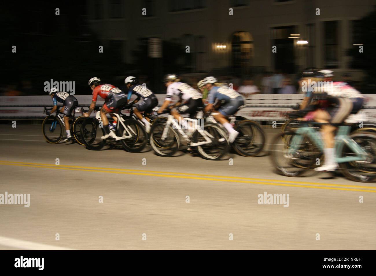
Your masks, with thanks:
[[(280, 133), (274, 138), (271, 160), (278, 173), (301, 176), (321, 162), (323, 141), (319, 131), (310, 125), (323, 124), (301, 121), (295, 131)], [(350, 131), (351, 125), (338, 127), (335, 136), (336, 161), (346, 178), (373, 182), (376, 178), (376, 136), (372, 133), (351, 134)]]

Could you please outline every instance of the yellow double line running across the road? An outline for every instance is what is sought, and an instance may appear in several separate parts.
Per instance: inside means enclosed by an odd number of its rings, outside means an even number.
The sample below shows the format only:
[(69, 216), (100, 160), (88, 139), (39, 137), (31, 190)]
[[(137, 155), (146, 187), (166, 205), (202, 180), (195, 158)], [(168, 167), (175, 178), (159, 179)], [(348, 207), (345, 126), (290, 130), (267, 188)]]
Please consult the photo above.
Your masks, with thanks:
[[(373, 186), (343, 185), (343, 184), (317, 183), (317, 182), (304, 182), (304, 181), (287, 181), (287, 180), (277, 180), (277, 179), (247, 178), (247, 177), (223, 176), (223, 175), (205, 175), (205, 174), (198, 174), (198, 173), (163, 172), (163, 171), (156, 171), (156, 170), (113, 169), (113, 168), (103, 168), (103, 167), (85, 167), (85, 166), (71, 166), (71, 165), (57, 166), (55, 164), (27, 163), (27, 162), (15, 162), (15, 161), (6, 161), (6, 160), (0, 160), (0, 165), (376, 193), (376, 187), (373, 187)], [(332, 187), (328, 187), (328, 186), (332, 186)]]

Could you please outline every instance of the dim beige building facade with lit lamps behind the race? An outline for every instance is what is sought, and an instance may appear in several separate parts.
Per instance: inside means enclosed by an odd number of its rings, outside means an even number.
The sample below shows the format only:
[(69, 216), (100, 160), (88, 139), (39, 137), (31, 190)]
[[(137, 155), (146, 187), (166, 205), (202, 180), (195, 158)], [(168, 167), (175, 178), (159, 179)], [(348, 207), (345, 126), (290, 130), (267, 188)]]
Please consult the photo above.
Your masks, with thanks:
[[(313, 66), (351, 72), (356, 79), (362, 71), (351, 68), (347, 51), (362, 44), (359, 19), (375, 4), (375, 0), (88, 0), (87, 12), (92, 31), (104, 45), (118, 45), (121, 60), (127, 63), (133, 61), (139, 38), (159, 38), (189, 46), (191, 73), (216, 68), (239, 74), (294, 73)], [(158, 45), (154, 48), (159, 51)]]

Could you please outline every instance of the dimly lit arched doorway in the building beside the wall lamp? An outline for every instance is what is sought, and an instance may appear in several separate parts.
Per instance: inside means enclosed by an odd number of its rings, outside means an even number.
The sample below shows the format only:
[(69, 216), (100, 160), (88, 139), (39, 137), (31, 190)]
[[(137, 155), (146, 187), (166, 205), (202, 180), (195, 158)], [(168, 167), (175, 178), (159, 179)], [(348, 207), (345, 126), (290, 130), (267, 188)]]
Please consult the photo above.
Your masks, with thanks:
[(253, 37), (249, 32), (237, 31), (231, 38), (231, 66), (235, 74), (246, 73), (254, 56)]

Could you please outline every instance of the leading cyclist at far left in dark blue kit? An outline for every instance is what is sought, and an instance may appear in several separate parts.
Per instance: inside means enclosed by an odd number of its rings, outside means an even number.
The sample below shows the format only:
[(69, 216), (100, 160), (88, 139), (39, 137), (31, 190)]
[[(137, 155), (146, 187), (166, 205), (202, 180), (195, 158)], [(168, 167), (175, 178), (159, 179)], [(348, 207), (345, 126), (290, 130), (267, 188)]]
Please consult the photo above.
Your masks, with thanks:
[(68, 142), (72, 140), (72, 135), (70, 133), (69, 116), (72, 115), (73, 110), (78, 106), (78, 101), (73, 95), (69, 95), (67, 92), (59, 92), (55, 87), (50, 89), (49, 95), (52, 98), (53, 108), (51, 112), (46, 112), (47, 115), (54, 113), (58, 109), (57, 102), (62, 103), (64, 106), (60, 110), (64, 114), (65, 132), (67, 133), (67, 138), (63, 141)]

